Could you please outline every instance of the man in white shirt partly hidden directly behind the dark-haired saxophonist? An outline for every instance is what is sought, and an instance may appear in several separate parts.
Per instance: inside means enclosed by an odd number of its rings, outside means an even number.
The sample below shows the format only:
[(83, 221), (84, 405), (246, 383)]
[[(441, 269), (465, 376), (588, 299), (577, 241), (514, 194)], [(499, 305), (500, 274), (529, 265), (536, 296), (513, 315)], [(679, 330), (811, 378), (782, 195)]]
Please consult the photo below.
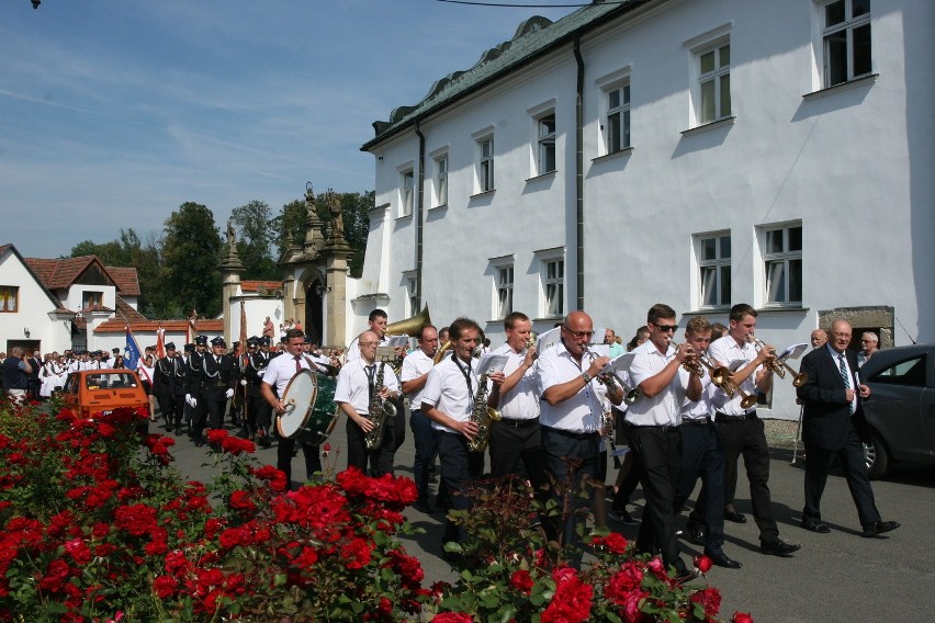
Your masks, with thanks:
[(413, 505), (421, 512), (432, 512), (429, 503), (429, 465), (435, 458), (438, 450), (438, 440), (431, 427), (431, 420), (423, 412), (423, 389), (428, 381), (428, 373), (433, 365), (433, 358), (438, 352), (438, 330), (431, 325), (426, 325), (419, 330), (417, 338), (418, 348), (406, 355), (403, 360), (401, 377), (403, 381), (403, 393), (409, 398), (412, 410), (409, 415), (409, 428), (413, 429), (413, 439), (416, 443), (416, 458), (413, 465), (413, 476), (419, 498)]

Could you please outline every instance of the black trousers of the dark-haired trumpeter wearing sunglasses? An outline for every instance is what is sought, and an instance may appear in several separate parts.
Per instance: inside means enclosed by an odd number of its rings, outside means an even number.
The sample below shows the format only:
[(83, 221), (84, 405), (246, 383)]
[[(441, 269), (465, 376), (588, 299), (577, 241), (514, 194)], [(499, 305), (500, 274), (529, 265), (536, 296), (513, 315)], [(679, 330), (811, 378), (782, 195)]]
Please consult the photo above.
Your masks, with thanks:
[(681, 441), (675, 427), (630, 427), (630, 448), (643, 471), (641, 483), (646, 498), (637, 550), (662, 554), (663, 563), (685, 570), (675, 539), (675, 483), (681, 464)]

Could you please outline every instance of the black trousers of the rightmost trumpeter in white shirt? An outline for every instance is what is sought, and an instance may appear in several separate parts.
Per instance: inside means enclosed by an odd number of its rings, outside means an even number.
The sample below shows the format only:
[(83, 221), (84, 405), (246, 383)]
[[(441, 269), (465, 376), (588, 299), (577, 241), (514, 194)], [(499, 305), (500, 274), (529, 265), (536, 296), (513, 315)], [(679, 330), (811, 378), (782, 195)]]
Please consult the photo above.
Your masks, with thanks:
[[(759, 528), (759, 541), (771, 543), (779, 539), (779, 529), (773, 517), (773, 500), (769, 494), (769, 446), (766, 444), (763, 420), (748, 418), (718, 419), (718, 432), (724, 445), (724, 500), (733, 503), (736, 490), (737, 460), (743, 455), (746, 479), (750, 480), (750, 501), (753, 519)], [(723, 423), (721, 423), (723, 422)]]

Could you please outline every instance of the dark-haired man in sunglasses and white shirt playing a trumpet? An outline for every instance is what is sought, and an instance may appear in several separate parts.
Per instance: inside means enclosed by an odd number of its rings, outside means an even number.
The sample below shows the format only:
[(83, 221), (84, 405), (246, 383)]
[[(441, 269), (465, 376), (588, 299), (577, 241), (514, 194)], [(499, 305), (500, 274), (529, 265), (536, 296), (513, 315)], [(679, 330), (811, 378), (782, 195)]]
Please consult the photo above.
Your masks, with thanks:
[(675, 309), (663, 303), (646, 314), (649, 339), (633, 349), (631, 382), (642, 389), (642, 397), (630, 405), (626, 421), (634, 461), (642, 471), (641, 483), (646, 498), (637, 550), (662, 553), (663, 563), (675, 568), (676, 577), (691, 576), (678, 555), (675, 539), (675, 483), (681, 463), (678, 424), (687, 400), (701, 396), (701, 381), (685, 364), (696, 361), (690, 344), (673, 346), (678, 327)]

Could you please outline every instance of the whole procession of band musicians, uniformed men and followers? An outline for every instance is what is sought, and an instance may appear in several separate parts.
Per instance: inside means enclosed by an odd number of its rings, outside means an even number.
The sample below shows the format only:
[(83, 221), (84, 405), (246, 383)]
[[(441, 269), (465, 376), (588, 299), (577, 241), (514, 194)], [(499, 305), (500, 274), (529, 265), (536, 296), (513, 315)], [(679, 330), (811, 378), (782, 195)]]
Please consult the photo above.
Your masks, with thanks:
[[(165, 344), (161, 359), (156, 347), (147, 347), (138, 373), (158, 404), (165, 430), (188, 434), (201, 446), (205, 429), (223, 428), (228, 418), (260, 446), (277, 443), (277, 466), (289, 482), (300, 450), (306, 478), (315, 477), (322, 463), (318, 441), (279, 434), (277, 418), (291, 407), (284, 390), (301, 371), (330, 377), (335, 421), (346, 419), (348, 467), (374, 477), (392, 474), (409, 428), (416, 508), (465, 510), (471, 503), (466, 489), (484, 474), (488, 453), (491, 477), (519, 478), (542, 508), (556, 499), (557, 508), (566, 510), (540, 518), (549, 539), (564, 544), (579, 544), (588, 517), (604, 525), (607, 518), (598, 502), (605, 496), (608, 451), (626, 446), (607, 514), (611, 521), (638, 523), (627, 506), (641, 485), (645, 505), (637, 548), (660, 554), (681, 578), (694, 570), (679, 553), (679, 535), (702, 546), (713, 564), (741, 567), (724, 551), (724, 522), (747, 521), (734, 506), (742, 457), (761, 552), (790, 556), (800, 545), (779, 536), (768, 485), (769, 451), (757, 416), (757, 397), (769, 392), (776, 376), (776, 350), (756, 339), (757, 312), (746, 304), (731, 308), (728, 326), (692, 316), (681, 339), (676, 318), (672, 307), (654, 305), (627, 344), (605, 329), (604, 348), (598, 349), (590, 316), (577, 310), (557, 325), (559, 339), (540, 352), (532, 321), (522, 313), (505, 318), (506, 341), (493, 350), (480, 325), (461, 317), (442, 329), (420, 327), (417, 347), (408, 352), (391, 346), (387, 315), (375, 309), (347, 353), (323, 353), (295, 324), (274, 343), (267, 318), (262, 335), (249, 338), (243, 349), (235, 344), (228, 351), (223, 338), (209, 342), (205, 336), (181, 351)], [(801, 526), (830, 531), (820, 502), (836, 456), (863, 535), (876, 536), (899, 528), (881, 519), (863, 458), (868, 434), (863, 400), (870, 390), (856, 371), (876, 352), (879, 338), (864, 333), (859, 356), (847, 350), (850, 339), (850, 325), (835, 319), (812, 332), (812, 351), (802, 359), (797, 395), (803, 405), (808, 460)], [(631, 354), (621, 358), (624, 353)], [(481, 374), (488, 355), (500, 358), (503, 365)], [(54, 388), (72, 370), (119, 367), (121, 360), (117, 349), (45, 358), (12, 349), (2, 362), (3, 380), (11, 396), (42, 395), (50, 390), (46, 380)], [(618, 366), (618, 360), (626, 365)], [(155, 419), (156, 409), (151, 412)], [(440, 483), (432, 503), (436, 461)], [(699, 478), (700, 492), (679, 531), (677, 518)], [(463, 537), (463, 530), (447, 520), (444, 542)]]

